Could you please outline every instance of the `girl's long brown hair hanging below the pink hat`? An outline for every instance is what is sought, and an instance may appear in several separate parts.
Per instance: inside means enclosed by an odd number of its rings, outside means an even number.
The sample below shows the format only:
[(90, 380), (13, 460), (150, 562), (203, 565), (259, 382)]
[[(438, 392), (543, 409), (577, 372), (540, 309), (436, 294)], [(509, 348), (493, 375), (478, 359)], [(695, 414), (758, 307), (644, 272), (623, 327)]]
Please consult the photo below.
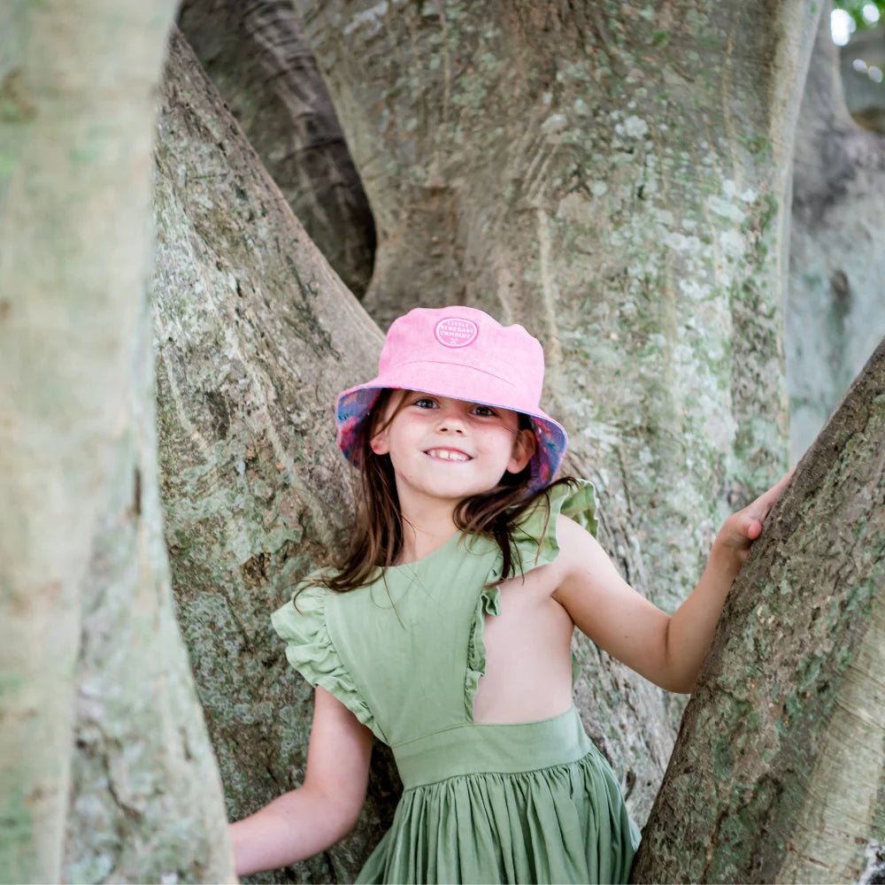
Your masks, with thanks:
[[(373, 435), (389, 426), (405, 404), (398, 405), (385, 425), (378, 427), (380, 416), (390, 401), (390, 390), (382, 390), (364, 422), (359, 441), (358, 481), (354, 489), (357, 511), (350, 545), (333, 564), (331, 572), (319, 574), (317, 581), (339, 593), (371, 583), (387, 566), (396, 564), (403, 550), (403, 517), (396, 494), (396, 476), (389, 455), (376, 455), (371, 447)], [(531, 429), (531, 419), (519, 415), (519, 429)], [(505, 473), (494, 489), (465, 498), (454, 512), (455, 525), (470, 535), (493, 538), (501, 549), (503, 566), (499, 580), (504, 581), (521, 570), (513, 543), (513, 532), (519, 519), (535, 504), (545, 489), (531, 491), (529, 468), (520, 473)], [(553, 485), (573, 482), (571, 477)], [(516, 553), (516, 556), (514, 556)]]

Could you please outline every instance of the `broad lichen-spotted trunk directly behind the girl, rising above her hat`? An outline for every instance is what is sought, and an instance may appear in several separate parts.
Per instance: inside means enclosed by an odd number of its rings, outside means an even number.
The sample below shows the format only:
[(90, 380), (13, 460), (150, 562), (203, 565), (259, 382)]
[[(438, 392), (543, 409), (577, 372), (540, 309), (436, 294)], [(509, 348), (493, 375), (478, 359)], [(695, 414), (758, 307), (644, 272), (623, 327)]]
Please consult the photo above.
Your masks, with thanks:
[[(812, 7), (296, 2), (378, 226), (367, 309), (466, 302), (540, 335), (604, 543), (668, 608), (786, 460), (782, 209)], [(579, 653), (589, 731), (643, 820), (665, 702)]]

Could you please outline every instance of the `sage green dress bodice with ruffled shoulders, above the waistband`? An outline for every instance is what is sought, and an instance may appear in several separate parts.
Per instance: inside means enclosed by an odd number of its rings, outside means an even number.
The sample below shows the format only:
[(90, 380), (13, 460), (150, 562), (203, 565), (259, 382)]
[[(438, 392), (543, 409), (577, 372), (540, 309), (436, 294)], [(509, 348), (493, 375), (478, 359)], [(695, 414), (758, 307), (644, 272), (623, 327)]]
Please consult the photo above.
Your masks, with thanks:
[[(520, 520), (513, 552), (523, 572), (557, 555), (560, 512), (595, 529), (593, 487), (558, 486)], [(473, 722), (485, 672), (483, 627), (500, 613), (502, 556), (491, 538), (458, 533), (427, 557), (390, 566), (335, 593), (308, 581), (273, 613), (287, 655), (391, 746)]]

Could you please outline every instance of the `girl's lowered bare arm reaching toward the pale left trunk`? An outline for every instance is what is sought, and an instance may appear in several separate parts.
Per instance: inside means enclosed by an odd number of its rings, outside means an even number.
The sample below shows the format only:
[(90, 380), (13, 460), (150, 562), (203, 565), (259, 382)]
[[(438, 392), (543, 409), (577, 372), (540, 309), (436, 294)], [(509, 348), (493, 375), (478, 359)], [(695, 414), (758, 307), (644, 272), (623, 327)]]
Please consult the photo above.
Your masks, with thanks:
[(304, 783), (231, 825), (236, 874), (289, 866), (347, 834), (366, 799), (371, 754), (372, 732), (318, 687)]

